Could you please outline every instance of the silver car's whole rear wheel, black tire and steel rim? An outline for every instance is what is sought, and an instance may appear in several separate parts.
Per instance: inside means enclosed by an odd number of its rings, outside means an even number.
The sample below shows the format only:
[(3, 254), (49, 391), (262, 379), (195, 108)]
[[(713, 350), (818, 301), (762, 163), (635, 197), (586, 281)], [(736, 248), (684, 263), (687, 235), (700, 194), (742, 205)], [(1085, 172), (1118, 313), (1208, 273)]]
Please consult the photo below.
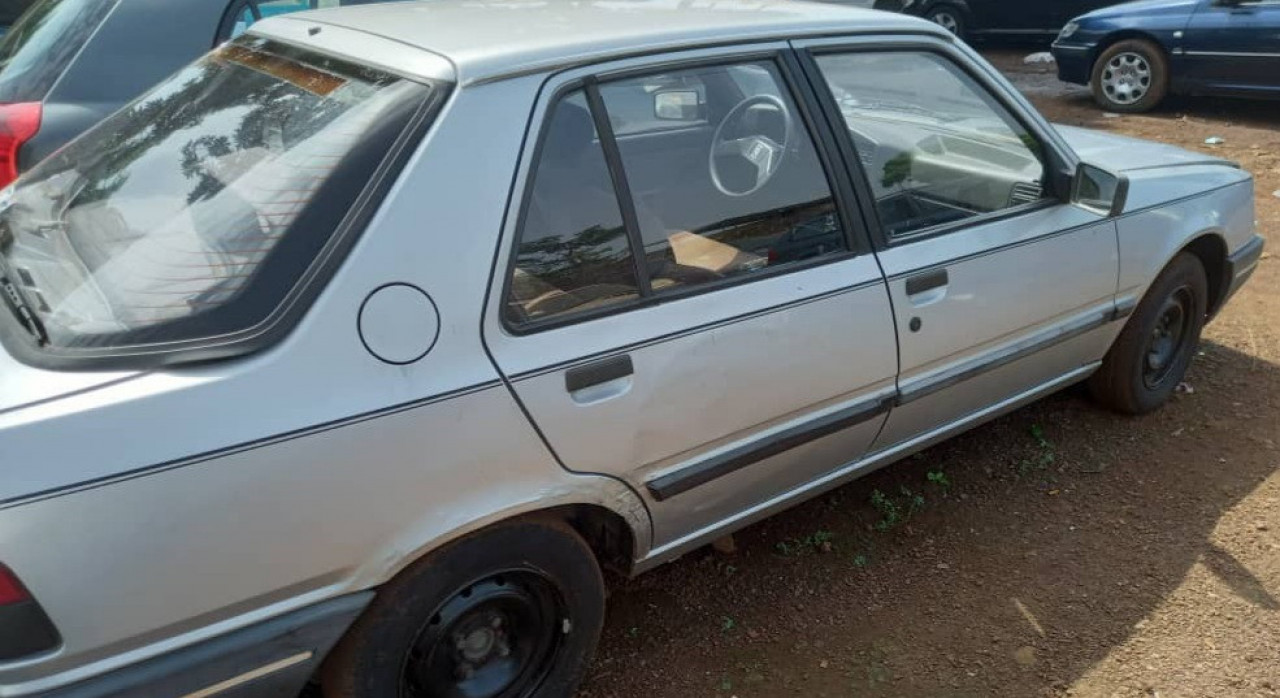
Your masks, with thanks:
[(558, 520), (515, 520), (383, 587), (321, 669), (325, 698), (572, 695), (604, 621), (591, 548)]

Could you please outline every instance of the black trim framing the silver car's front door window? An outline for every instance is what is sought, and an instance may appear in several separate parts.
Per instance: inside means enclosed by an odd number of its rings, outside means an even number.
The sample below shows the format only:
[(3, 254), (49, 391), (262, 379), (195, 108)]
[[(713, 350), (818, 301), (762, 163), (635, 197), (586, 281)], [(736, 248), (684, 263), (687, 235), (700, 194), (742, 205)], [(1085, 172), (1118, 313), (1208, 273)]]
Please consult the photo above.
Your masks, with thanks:
[[(1064, 177), (1064, 173), (1070, 169), (1070, 160), (1059, 150), (1057, 143), (1053, 138), (1044, 134), (1039, 124), (1029, 122), (1021, 114), (1021, 110), (1016, 105), (1011, 104), (1004, 90), (1000, 90), (987, 76), (983, 76), (973, 69), (968, 61), (961, 60), (955, 53), (950, 51), (947, 46), (920, 41), (918, 38), (908, 40), (877, 40), (877, 41), (858, 41), (849, 44), (823, 44), (818, 46), (805, 46), (797, 50), (800, 58), (800, 65), (805, 76), (808, 76), (813, 91), (818, 101), (820, 102), (822, 114), (827, 119), (828, 128), (836, 132), (836, 140), (838, 142), (838, 150), (841, 158), (844, 159), (845, 166), (849, 172), (854, 173), (854, 188), (858, 193), (859, 207), (863, 211), (864, 227), (872, 238), (874, 248), (877, 251), (887, 250), (890, 247), (897, 247), (900, 245), (910, 245), (913, 242), (920, 242), (923, 239), (931, 239), (934, 237), (942, 237), (951, 234), (966, 228), (975, 225), (983, 225), (988, 223), (996, 223), (1000, 220), (1006, 220), (1010, 218), (1018, 218), (1029, 213), (1046, 210), (1053, 206), (1060, 206), (1064, 204), (1064, 193), (1057, 191), (1069, 177)], [(847, 55), (847, 54), (886, 54), (886, 53), (913, 53), (913, 54), (933, 54), (942, 60), (946, 60), (955, 69), (960, 70), (963, 74), (968, 76), (979, 87), (987, 91), (987, 95), (995, 101), (1001, 109), (1005, 110), (1006, 115), (1019, 126), (1021, 126), (1028, 133), (1033, 134), (1039, 142), (1041, 150), (1044, 155), (1044, 193), (1039, 201), (1032, 201), (1028, 204), (1019, 204), (1018, 206), (1009, 206), (996, 211), (989, 211), (986, 214), (974, 215), (961, 220), (942, 223), (938, 225), (931, 225), (928, 228), (922, 228), (919, 231), (911, 231), (910, 233), (888, 236), (884, 233), (884, 227), (879, 220), (879, 210), (876, 206), (876, 197), (870, 190), (870, 179), (867, 175), (867, 170), (863, 166), (861, 160), (858, 156), (858, 149), (852, 142), (852, 137), (849, 134), (849, 128), (844, 124), (844, 117), (840, 113), (840, 106), (836, 104), (835, 95), (832, 95), (831, 88), (827, 86), (826, 77), (818, 65), (818, 58), (824, 55)]]

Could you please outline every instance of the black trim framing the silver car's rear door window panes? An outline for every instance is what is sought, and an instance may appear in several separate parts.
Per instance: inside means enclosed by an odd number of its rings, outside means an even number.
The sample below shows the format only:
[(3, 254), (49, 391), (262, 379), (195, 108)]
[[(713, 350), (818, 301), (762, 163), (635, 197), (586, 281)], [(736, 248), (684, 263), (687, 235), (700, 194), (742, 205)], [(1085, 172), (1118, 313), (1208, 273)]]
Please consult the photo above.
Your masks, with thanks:
[[(662, 291), (654, 293), (649, 288), (648, 283), (648, 269), (644, 272), (637, 272), (637, 292), (639, 297), (631, 301), (621, 301), (611, 304), (603, 307), (584, 310), (584, 311), (568, 311), (558, 315), (553, 315), (545, 319), (527, 320), (522, 323), (512, 321), (507, 315), (507, 301), (511, 293), (512, 274), (516, 269), (516, 260), (518, 257), (520, 243), (525, 232), (525, 222), (529, 214), (529, 206), (532, 199), (532, 188), (536, 179), (538, 165), (541, 161), (543, 145), (547, 140), (547, 133), (550, 127), (550, 120), (556, 115), (556, 108), (559, 105), (567, 95), (575, 91), (584, 91), (588, 99), (588, 106), (591, 111), (591, 119), (596, 126), (596, 134), (602, 138), (602, 150), (604, 151), (605, 164), (609, 168), (611, 178), (614, 182), (614, 195), (618, 197), (618, 206), (622, 210), (623, 225), (627, 227), (627, 241), (631, 247), (631, 256), (634, 264), (639, 268), (644, 268), (643, 263), (643, 250), (644, 246), (639, 243), (639, 224), (635, 219), (635, 202), (631, 199), (630, 190), (620, 191), (618, 182), (626, 182), (626, 172), (622, 165), (621, 155), (617, 147), (617, 138), (613, 137), (612, 124), (608, 123), (608, 114), (604, 109), (603, 100), (599, 99), (599, 85), (609, 83), (614, 81), (621, 81), (632, 77), (650, 76), (662, 72), (671, 70), (684, 70), (699, 67), (716, 67), (716, 65), (740, 65), (751, 61), (771, 61), (778, 70), (782, 78), (782, 85), (780, 88), (788, 90), (788, 96), (796, 106), (796, 111), (800, 115), (800, 120), (804, 124), (808, 134), (813, 142), (814, 151), (818, 156), (818, 161), (823, 168), (823, 175), (827, 179), (827, 186), (832, 195), (832, 201), (835, 205), (835, 213), (841, 222), (841, 227), (845, 233), (845, 243), (847, 250), (831, 254), (822, 257), (815, 257), (810, 260), (803, 260), (790, 264), (778, 265), (776, 268), (764, 268), (759, 272), (753, 272), (750, 274), (741, 274), (739, 277), (730, 277), (712, 283), (700, 283), (696, 286), (678, 287), (671, 291)], [(548, 77), (547, 83), (554, 82), (559, 74), (553, 74)], [(595, 93), (593, 99), (591, 93)], [(829, 128), (826, 122), (820, 118), (819, 101), (813, 92), (813, 86), (805, 76), (801, 73), (800, 63), (795, 56), (794, 49), (746, 49), (741, 53), (731, 54), (717, 54), (713, 56), (698, 56), (698, 58), (677, 58), (671, 56), (669, 60), (658, 60), (653, 63), (645, 63), (643, 65), (628, 65), (617, 69), (603, 69), (593, 72), (590, 74), (566, 81), (563, 85), (556, 87), (550, 96), (545, 101), (545, 110), (543, 111), (541, 123), (538, 126), (536, 142), (530, 155), (529, 165), (525, 173), (525, 181), (520, 186), (520, 204), (517, 209), (516, 225), (511, 236), (507, 250), (507, 263), (503, 266), (503, 277), (499, 291), (499, 307), (498, 319), (500, 328), (508, 334), (516, 337), (524, 337), (529, 334), (536, 334), (540, 332), (547, 332), (552, 329), (558, 329), (563, 327), (576, 325), (580, 323), (586, 323), (591, 320), (598, 320), (602, 318), (608, 318), (612, 315), (620, 315), (623, 312), (631, 312), (644, 307), (653, 307), (655, 305), (662, 305), (672, 301), (678, 301), (689, 298), (692, 296), (701, 296), (704, 293), (713, 293), (722, 291), (724, 288), (731, 288), (735, 286), (753, 283), (763, 279), (769, 279), (782, 274), (792, 274), (797, 272), (804, 272), (817, 266), (823, 266), (827, 264), (838, 264), (841, 261), (847, 261), (858, 256), (869, 254), (873, 248), (872, 241), (868, 237), (868, 231), (863, 223), (865, 216), (858, 210), (859, 199), (855, 195), (855, 187), (852, 178), (842, 166), (841, 156), (837, 151), (837, 141), (829, 133)], [(598, 113), (599, 110), (599, 113)], [(604, 128), (602, 129), (602, 123)], [(604, 145), (604, 133), (609, 134), (612, 141), (608, 146)], [(626, 138), (626, 136), (623, 136)], [(626, 199), (626, 202), (623, 202)], [(630, 211), (630, 213), (628, 213)], [(631, 228), (635, 227), (635, 231)], [(640, 251), (640, 254), (637, 254)], [(640, 273), (644, 274), (644, 282), (641, 283)], [(648, 292), (645, 291), (648, 288)]]

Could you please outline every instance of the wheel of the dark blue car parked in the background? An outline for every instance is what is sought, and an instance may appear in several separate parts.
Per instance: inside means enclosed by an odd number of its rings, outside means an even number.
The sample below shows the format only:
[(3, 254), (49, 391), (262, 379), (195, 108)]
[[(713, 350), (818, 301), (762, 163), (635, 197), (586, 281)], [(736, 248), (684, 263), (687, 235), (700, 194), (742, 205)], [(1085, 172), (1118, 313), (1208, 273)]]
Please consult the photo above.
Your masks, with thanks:
[(1169, 93), (1169, 59), (1151, 41), (1117, 41), (1093, 63), (1089, 88), (1093, 101), (1108, 111), (1149, 111)]

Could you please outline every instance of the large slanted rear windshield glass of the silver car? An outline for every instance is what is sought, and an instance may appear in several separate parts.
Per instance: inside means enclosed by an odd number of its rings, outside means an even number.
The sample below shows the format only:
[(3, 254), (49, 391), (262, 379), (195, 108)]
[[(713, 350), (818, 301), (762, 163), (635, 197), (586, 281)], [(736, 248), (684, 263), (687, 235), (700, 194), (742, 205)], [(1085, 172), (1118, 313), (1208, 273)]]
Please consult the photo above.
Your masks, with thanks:
[(440, 90), (242, 37), (0, 197), (0, 273), (55, 348), (248, 329)]

